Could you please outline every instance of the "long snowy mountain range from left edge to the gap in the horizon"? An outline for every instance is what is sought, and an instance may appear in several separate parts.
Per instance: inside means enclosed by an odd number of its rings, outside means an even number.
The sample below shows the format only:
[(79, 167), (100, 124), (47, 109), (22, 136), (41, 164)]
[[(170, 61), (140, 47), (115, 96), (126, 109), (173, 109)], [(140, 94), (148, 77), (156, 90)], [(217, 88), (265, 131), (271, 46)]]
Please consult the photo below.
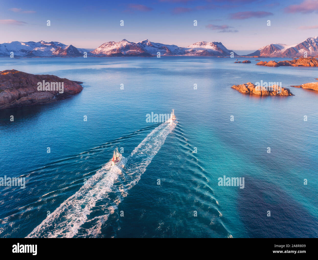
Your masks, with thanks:
[[(53, 57), (53, 56), (230, 56), (228, 50), (220, 42), (197, 42), (186, 48), (176, 45), (150, 42), (148, 39), (134, 43), (123, 39), (120, 42), (107, 42), (93, 51), (79, 49), (73, 45), (60, 42), (7, 42), (0, 44), (0, 56), (8, 57), (13, 51), (17, 57)], [(234, 55), (237, 54), (234, 52)]]

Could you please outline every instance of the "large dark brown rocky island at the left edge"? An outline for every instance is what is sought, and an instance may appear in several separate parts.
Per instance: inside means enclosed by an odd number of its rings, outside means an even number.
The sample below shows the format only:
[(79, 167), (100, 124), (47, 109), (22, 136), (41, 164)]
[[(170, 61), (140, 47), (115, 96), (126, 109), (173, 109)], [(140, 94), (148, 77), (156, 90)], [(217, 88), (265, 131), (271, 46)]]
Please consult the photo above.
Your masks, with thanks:
[[(0, 109), (33, 106), (66, 99), (81, 92), (83, 82), (54, 75), (33, 75), (17, 70), (0, 72)], [(43, 88), (42, 88), (43, 85)]]

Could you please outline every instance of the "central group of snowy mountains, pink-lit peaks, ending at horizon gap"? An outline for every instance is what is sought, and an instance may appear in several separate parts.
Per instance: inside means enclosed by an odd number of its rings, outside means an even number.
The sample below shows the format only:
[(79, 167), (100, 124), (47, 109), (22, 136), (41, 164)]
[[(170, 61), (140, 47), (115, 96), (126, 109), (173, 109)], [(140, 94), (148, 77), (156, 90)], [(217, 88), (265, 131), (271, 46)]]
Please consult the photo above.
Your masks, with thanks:
[[(186, 48), (177, 45), (150, 42), (148, 39), (134, 43), (123, 39), (120, 42), (107, 42), (94, 51), (93, 55), (105, 56), (153, 56), (160, 52), (162, 56), (229, 56), (231, 50), (219, 42), (197, 42)], [(234, 53), (234, 55), (237, 55)]]

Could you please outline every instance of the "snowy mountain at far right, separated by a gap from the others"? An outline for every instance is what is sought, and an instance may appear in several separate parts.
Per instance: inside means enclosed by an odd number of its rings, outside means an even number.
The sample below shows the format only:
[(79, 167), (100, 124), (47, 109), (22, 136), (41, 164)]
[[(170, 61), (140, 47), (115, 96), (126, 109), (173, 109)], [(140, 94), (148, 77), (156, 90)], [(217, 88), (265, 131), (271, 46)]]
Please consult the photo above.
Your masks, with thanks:
[(318, 55), (318, 36), (309, 37), (300, 44), (269, 44), (247, 56), (268, 56), (268, 57), (301, 57), (305, 52), (307, 56)]

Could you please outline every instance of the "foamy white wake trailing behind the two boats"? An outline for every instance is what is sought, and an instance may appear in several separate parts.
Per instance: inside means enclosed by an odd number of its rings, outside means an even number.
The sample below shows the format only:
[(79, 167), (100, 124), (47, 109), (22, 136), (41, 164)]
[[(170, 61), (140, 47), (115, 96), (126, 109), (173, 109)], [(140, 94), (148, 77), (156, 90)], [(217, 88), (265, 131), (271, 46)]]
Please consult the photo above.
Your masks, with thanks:
[[(153, 129), (132, 151), (126, 163), (126, 174), (121, 166), (111, 166), (111, 162), (98, 170), (71, 197), (47, 216), (27, 237), (94, 237), (101, 233), (101, 226), (114, 213), (127, 191), (134, 187), (146, 171), (147, 166), (162, 147), (166, 137), (175, 128), (174, 123), (163, 123)], [(122, 164), (122, 163), (121, 163)], [(114, 186), (118, 181), (120, 185)], [(110, 194), (112, 194), (110, 198)], [(102, 202), (99, 216), (89, 219), (89, 215)], [(86, 226), (83, 227), (83, 224)]]

